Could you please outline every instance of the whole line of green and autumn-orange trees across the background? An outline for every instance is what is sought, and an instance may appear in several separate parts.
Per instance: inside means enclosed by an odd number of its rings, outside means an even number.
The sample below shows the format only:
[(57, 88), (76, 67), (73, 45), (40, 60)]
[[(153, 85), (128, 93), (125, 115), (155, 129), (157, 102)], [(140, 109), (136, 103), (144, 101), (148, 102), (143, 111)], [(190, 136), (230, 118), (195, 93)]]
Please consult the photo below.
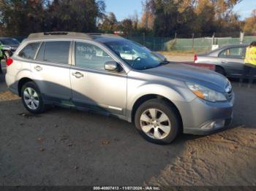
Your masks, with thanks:
[[(141, 19), (135, 12), (120, 22), (105, 14), (104, 0), (0, 0), (0, 35), (26, 36), (39, 31), (80, 31), (124, 36), (195, 37), (255, 33), (255, 13), (244, 22), (233, 13), (241, 0), (143, 0)], [(217, 35), (218, 36), (218, 35)], [(169, 49), (169, 45), (167, 45)]]

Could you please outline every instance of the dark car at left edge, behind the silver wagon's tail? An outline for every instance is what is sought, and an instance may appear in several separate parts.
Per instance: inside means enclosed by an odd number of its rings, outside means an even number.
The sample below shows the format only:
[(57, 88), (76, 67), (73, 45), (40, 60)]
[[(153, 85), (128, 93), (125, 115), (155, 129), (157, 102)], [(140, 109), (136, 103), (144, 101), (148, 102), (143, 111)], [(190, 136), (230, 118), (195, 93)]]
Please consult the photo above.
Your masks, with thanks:
[(3, 47), (3, 56), (4, 59), (7, 60), (10, 56), (12, 56), (13, 52), (17, 50), (20, 42), (17, 39), (9, 38), (9, 37), (0, 37), (0, 44)]

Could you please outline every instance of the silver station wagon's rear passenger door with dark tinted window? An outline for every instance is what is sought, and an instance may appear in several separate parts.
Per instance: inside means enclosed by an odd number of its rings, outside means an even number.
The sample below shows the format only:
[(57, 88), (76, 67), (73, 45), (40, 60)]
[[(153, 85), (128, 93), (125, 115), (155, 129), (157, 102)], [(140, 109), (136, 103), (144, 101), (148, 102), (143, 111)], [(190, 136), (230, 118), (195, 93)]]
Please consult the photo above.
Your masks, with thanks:
[(42, 42), (35, 62), (31, 65), (34, 79), (42, 95), (48, 101), (70, 101), (72, 90), (69, 70), (71, 42)]

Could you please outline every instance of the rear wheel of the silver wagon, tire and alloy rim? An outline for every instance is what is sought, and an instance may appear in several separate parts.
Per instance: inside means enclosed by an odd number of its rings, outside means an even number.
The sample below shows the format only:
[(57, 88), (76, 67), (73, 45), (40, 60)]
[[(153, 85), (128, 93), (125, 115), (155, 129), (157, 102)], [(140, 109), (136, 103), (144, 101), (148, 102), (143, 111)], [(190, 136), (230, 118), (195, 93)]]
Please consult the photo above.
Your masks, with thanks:
[(26, 110), (33, 114), (45, 112), (46, 105), (44, 104), (39, 88), (34, 82), (26, 82), (21, 87), (20, 94)]

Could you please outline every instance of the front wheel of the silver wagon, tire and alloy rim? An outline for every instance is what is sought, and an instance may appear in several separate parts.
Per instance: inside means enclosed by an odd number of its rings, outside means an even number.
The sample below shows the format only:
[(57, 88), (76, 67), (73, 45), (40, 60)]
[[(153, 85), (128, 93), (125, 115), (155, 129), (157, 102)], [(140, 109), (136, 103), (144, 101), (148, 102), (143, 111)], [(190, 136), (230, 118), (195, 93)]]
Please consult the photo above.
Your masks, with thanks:
[(167, 101), (151, 99), (138, 107), (135, 126), (147, 141), (154, 144), (170, 144), (176, 139), (181, 122), (177, 110)]

